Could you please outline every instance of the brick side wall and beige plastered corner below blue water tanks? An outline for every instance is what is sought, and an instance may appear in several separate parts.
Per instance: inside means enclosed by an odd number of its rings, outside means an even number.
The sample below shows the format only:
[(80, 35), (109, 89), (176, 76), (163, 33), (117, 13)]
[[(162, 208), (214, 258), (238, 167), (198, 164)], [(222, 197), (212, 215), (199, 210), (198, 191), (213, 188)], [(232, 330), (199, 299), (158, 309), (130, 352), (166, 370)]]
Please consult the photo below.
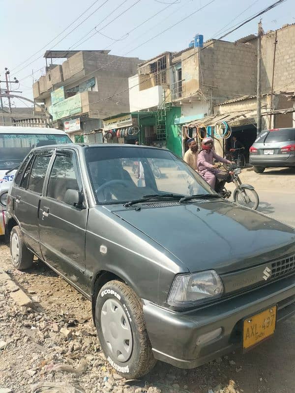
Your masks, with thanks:
[[(204, 50), (197, 48), (181, 55), (182, 78), (185, 79), (185, 96), (201, 89), (214, 103), (255, 94), (257, 84), (256, 41), (238, 44), (211, 41)], [(200, 61), (199, 61), (200, 57)]]

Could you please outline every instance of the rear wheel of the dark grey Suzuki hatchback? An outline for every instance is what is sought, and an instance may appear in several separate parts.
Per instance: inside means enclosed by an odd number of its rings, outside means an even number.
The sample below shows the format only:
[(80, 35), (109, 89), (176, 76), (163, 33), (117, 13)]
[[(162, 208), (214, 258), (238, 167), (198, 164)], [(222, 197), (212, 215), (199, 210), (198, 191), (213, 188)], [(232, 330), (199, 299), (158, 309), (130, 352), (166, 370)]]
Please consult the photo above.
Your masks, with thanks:
[(33, 264), (34, 255), (28, 250), (19, 226), (14, 226), (10, 233), (10, 254), (12, 264), (18, 270), (29, 269)]

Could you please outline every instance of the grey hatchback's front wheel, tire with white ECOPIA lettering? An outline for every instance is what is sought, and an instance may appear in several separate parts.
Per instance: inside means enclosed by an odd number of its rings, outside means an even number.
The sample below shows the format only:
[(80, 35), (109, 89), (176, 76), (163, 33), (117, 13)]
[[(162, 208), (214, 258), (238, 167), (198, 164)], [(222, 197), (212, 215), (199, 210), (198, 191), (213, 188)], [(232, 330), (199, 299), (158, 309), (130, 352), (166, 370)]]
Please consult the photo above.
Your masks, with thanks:
[(98, 293), (95, 322), (101, 348), (113, 368), (125, 378), (139, 378), (155, 365), (143, 308), (134, 291), (113, 280)]

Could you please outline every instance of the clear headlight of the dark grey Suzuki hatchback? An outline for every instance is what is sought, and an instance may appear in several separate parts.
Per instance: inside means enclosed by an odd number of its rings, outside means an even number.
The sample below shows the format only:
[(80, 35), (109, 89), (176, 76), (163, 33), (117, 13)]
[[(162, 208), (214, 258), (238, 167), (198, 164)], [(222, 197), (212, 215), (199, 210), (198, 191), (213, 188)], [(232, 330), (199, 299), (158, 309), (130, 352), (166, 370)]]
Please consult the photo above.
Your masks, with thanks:
[(174, 307), (190, 307), (207, 298), (218, 297), (223, 293), (223, 283), (215, 270), (201, 273), (178, 275), (174, 280), (168, 304)]

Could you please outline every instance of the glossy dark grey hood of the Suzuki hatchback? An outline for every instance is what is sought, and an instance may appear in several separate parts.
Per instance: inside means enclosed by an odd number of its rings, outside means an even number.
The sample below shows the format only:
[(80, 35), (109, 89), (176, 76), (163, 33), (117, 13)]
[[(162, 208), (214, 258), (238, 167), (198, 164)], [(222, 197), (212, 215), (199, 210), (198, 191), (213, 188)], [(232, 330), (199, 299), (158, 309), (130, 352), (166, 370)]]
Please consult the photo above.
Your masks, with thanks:
[(123, 209), (112, 212), (190, 272), (215, 269), (223, 274), (295, 253), (292, 227), (228, 201)]

